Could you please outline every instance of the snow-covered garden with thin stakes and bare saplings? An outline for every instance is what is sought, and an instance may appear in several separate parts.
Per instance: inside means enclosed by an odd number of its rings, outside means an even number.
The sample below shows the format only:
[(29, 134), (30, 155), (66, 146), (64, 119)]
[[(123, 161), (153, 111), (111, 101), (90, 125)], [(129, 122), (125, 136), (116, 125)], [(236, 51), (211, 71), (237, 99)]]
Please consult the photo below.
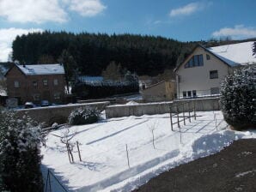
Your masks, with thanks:
[[(187, 119), (186, 125), (180, 122), (180, 129), (175, 124), (174, 131), (169, 114), (103, 119), (100, 123), (73, 126), (70, 135), (76, 135), (71, 141), (81, 143), (82, 161), (75, 147), (72, 164), (59, 138), (64, 129), (52, 131), (47, 147), (41, 150), (42, 170), (46, 177), (50, 168), (70, 191), (130, 191), (174, 166), (219, 152), (234, 140), (256, 138), (253, 132), (227, 130), (221, 111), (197, 112), (197, 116), (191, 123)], [(64, 191), (54, 179), (51, 187), (52, 191)]]

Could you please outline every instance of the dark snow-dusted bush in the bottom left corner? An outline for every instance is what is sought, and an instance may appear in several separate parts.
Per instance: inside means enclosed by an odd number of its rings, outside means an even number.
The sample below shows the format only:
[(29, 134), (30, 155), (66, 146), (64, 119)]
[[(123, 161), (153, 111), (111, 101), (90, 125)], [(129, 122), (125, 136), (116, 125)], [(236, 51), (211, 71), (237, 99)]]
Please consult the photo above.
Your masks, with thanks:
[[(43, 191), (40, 172), (40, 127), (31, 118), (0, 111), (2, 190)], [(1, 191), (2, 191), (1, 190)]]

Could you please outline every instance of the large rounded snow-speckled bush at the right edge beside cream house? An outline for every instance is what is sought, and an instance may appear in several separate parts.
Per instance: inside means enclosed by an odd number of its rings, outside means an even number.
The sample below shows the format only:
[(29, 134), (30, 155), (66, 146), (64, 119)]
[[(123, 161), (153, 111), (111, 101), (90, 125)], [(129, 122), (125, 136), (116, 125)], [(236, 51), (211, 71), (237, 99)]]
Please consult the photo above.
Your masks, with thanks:
[(234, 129), (256, 127), (256, 66), (237, 69), (222, 81), (222, 113)]

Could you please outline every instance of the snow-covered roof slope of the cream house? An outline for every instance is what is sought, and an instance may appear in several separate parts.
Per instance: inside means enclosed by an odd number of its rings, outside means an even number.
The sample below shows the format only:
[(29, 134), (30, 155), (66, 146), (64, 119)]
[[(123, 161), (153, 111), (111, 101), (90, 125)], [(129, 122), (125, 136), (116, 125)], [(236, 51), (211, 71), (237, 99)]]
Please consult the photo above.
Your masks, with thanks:
[(215, 53), (221, 59), (224, 59), (231, 66), (235, 63), (253, 64), (256, 63), (256, 57), (253, 57), (253, 41), (222, 45), (208, 48), (209, 51)]

